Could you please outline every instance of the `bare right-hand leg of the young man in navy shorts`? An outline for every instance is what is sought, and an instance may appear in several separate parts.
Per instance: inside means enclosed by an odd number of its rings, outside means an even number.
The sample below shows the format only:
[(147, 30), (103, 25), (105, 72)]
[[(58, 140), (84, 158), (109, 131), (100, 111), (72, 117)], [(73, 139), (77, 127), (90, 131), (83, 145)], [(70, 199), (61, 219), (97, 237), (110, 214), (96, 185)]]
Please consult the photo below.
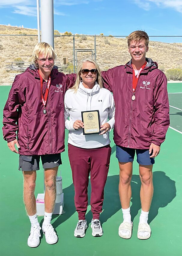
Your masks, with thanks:
[(153, 165), (139, 164), (139, 174), (141, 180), (140, 200), (143, 211), (148, 212), (153, 197), (153, 181), (152, 181)]

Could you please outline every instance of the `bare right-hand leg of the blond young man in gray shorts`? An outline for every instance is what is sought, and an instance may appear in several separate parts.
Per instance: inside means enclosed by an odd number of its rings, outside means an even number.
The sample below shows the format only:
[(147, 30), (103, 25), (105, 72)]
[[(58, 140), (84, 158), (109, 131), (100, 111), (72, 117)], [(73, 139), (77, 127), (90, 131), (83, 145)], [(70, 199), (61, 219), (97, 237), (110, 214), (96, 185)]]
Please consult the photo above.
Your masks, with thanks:
[(56, 175), (58, 167), (52, 169), (45, 169), (44, 171), (44, 183), (45, 183), (45, 211), (52, 213), (54, 210), (54, 204), (56, 200)]

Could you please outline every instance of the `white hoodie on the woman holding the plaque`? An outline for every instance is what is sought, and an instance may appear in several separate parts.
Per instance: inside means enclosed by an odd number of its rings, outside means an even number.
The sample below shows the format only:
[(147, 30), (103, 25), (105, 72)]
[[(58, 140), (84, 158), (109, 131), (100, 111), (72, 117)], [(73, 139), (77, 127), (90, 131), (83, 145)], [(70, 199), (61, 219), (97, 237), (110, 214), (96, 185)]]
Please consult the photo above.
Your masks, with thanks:
[(82, 128), (74, 130), (74, 122), (82, 120), (81, 111), (89, 110), (99, 110), (101, 125), (107, 122), (111, 129), (114, 127), (115, 106), (111, 92), (100, 88), (97, 82), (92, 89), (86, 89), (80, 82), (76, 93), (71, 89), (65, 93), (65, 127), (69, 130), (68, 143), (79, 148), (100, 148), (108, 145), (111, 142), (109, 131), (102, 135), (83, 135)]

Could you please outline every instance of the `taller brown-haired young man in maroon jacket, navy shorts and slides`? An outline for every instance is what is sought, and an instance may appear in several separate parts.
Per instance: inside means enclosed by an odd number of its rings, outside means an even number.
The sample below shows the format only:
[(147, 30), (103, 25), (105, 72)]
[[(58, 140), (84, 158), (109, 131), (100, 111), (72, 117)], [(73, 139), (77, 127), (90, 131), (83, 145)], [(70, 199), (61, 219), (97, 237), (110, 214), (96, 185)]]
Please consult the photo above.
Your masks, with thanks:
[(119, 194), (123, 211), (119, 236), (125, 239), (132, 235), (130, 199), (135, 152), (141, 179), (137, 236), (148, 239), (151, 235), (147, 220), (153, 197), (152, 167), (169, 126), (167, 80), (157, 63), (146, 58), (148, 42), (146, 32), (132, 32), (128, 36), (132, 59), (124, 66), (102, 72), (104, 86), (113, 92), (116, 106), (114, 142), (120, 167)]

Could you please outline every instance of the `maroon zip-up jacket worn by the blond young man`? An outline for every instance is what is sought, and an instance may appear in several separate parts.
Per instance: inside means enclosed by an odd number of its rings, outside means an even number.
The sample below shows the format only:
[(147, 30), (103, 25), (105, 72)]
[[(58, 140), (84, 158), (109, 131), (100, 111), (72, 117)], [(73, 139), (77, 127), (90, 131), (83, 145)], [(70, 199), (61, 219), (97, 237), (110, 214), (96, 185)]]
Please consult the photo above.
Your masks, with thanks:
[[(15, 77), (3, 111), (3, 135), (7, 142), (18, 139), (20, 155), (47, 155), (64, 151), (64, 95), (76, 75), (65, 75), (53, 67), (46, 110), (43, 113), (38, 70), (30, 65)], [(47, 83), (43, 81), (43, 95)]]

